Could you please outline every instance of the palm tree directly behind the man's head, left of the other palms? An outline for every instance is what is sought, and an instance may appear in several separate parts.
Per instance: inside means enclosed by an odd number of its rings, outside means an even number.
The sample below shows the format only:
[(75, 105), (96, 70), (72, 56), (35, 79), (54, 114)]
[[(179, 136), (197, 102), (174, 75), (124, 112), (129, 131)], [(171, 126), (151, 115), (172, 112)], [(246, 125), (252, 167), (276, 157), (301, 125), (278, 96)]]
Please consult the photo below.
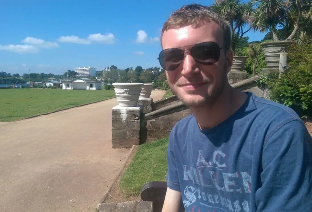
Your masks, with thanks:
[(232, 32), (231, 48), (235, 55), (239, 40), (251, 30), (251, 27), (247, 27), (244, 31), (244, 27), (250, 23), (251, 15), (255, 12), (253, 3), (244, 3), (241, 0), (215, 0), (211, 8), (229, 22)]

